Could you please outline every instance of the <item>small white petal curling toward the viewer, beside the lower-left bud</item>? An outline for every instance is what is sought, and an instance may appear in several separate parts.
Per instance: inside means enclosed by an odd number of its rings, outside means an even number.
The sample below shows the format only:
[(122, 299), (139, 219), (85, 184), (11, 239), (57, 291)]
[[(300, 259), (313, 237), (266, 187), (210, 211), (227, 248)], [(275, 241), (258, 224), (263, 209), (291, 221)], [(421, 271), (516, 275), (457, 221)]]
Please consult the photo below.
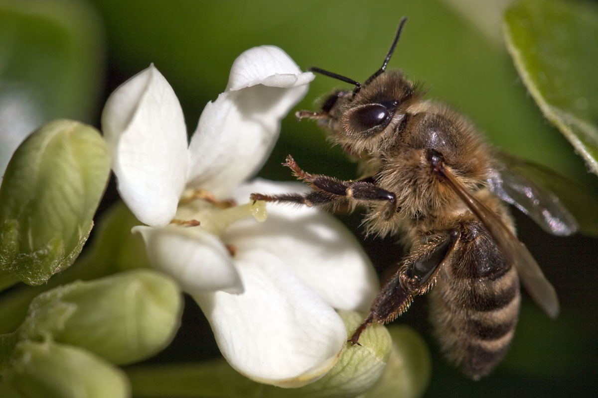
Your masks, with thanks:
[(133, 228), (133, 232), (144, 237), (152, 266), (172, 276), (183, 291), (243, 292), (233, 260), (218, 237), (197, 227), (140, 226)]

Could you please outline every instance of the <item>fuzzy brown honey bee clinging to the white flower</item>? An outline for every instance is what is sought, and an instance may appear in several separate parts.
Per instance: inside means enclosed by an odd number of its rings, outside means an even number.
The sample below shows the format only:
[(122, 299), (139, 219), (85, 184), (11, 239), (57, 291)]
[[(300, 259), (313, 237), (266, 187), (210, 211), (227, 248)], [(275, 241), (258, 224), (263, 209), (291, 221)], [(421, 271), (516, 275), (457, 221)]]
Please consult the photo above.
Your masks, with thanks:
[(286, 166), (305, 181), (305, 195), (252, 194), (253, 200), (367, 209), (368, 233), (401, 237), (408, 253), (350, 338), (372, 323), (404, 313), (416, 295), (431, 295), (431, 322), (450, 362), (474, 380), (507, 353), (520, 306), (519, 281), (550, 317), (559, 301), (527, 248), (515, 237), (508, 207), (515, 205), (555, 235), (575, 232), (576, 222), (553, 193), (499, 160), (464, 116), (423, 100), (419, 85), (402, 72), (385, 72), (406, 18), (399, 23), (382, 67), (364, 84), (319, 68), (313, 72), (347, 82), (353, 90), (328, 95), (315, 119), (359, 162), (362, 178), (341, 181)]

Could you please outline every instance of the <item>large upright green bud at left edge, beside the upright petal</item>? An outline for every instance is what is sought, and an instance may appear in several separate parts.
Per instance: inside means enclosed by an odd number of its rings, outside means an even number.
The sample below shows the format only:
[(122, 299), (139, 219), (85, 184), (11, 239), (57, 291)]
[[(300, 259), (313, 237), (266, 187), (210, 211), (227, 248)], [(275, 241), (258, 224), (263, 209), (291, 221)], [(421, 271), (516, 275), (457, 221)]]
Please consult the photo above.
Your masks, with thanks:
[(70, 266), (109, 171), (106, 144), (93, 127), (59, 120), (33, 132), (0, 187), (0, 273), (39, 285)]

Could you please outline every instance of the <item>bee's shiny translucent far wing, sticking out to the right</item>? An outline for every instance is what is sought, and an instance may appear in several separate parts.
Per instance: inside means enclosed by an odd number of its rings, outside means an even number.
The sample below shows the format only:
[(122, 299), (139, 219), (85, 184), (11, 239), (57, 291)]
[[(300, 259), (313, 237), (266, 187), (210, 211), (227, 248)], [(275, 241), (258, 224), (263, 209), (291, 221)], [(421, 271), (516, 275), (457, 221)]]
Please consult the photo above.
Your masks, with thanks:
[[(507, 156), (511, 159), (509, 162), (518, 160), (514, 156)], [(518, 164), (521, 166), (524, 162), (519, 161)], [(551, 179), (554, 180), (554, 173), (551, 173)], [(546, 232), (566, 236), (577, 231), (577, 221), (559, 198), (515, 169), (499, 165), (492, 170), (487, 181), (493, 193), (527, 214)]]

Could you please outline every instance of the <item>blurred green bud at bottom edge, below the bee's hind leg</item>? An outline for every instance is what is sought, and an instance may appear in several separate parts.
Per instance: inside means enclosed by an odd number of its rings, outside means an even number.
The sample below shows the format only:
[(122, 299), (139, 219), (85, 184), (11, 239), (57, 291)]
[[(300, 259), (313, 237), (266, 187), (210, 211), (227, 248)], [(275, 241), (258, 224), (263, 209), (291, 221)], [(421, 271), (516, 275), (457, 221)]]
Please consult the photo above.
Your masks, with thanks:
[(423, 395), (432, 372), (428, 346), (408, 326), (390, 326), (392, 351), (382, 377), (363, 398), (415, 398)]

